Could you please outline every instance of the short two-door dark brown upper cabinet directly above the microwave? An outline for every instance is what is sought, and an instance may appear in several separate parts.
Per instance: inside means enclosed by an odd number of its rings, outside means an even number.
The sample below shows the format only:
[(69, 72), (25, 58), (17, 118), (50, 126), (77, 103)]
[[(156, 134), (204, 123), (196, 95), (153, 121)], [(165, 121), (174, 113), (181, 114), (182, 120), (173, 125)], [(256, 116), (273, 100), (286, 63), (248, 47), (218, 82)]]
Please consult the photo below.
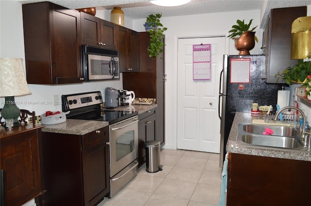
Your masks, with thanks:
[(81, 12), (82, 44), (116, 49), (116, 24)]

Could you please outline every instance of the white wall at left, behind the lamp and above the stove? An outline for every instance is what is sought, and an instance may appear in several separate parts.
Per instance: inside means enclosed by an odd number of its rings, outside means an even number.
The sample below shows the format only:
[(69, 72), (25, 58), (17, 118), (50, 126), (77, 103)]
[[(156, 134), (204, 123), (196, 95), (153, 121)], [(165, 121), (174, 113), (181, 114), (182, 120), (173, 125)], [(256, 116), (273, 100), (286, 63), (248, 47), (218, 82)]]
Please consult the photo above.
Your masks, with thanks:
[[(96, 16), (100, 17), (99, 12)], [(131, 22), (129, 22), (131, 25)], [(23, 33), (23, 17), (22, 7), (20, 2), (11, 0), (0, 0), (0, 58), (22, 58), (25, 59), (24, 51), (24, 33)], [(25, 63), (23, 62), (24, 68)], [(22, 104), (17, 104), (19, 109), (35, 111), (36, 115), (42, 114), (45, 111), (61, 111), (61, 105), (35, 105), (30, 103), (40, 101), (52, 101), (53, 95), (61, 95), (101, 91), (104, 95), (106, 87), (114, 87), (122, 89), (122, 75), (120, 80), (86, 82), (82, 84), (70, 85), (37, 85), (29, 84), (32, 95), (16, 96), (15, 100)], [(0, 98), (0, 108), (3, 108), (4, 98)]]

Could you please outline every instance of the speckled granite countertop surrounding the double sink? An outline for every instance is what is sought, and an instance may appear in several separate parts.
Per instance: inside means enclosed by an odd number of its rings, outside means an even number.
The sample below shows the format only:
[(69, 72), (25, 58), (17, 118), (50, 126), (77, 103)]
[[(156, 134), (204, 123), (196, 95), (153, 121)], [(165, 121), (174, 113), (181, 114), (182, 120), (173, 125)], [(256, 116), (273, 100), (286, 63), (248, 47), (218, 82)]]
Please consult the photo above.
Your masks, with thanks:
[(236, 112), (233, 124), (230, 130), (228, 142), (226, 144), (226, 151), (231, 153), (256, 155), (271, 158), (285, 158), (295, 160), (311, 161), (311, 151), (298, 151), (294, 149), (282, 149), (275, 147), (256, 147), (246, 146), (236, 143), (238, 135), (238, 127), (240, 123), (252, 123), (251, 113)]

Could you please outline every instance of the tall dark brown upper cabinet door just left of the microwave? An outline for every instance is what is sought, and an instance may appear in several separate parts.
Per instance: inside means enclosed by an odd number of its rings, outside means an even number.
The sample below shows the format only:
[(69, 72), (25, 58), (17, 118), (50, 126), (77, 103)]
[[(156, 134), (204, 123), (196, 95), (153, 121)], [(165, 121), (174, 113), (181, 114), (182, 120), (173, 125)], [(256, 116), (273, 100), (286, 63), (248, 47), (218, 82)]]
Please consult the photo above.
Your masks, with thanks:
[(80, 46), (81, 19), (80, 12), (57, 9), (52, 12), (51, 54), (52, 84), (81, 82)]

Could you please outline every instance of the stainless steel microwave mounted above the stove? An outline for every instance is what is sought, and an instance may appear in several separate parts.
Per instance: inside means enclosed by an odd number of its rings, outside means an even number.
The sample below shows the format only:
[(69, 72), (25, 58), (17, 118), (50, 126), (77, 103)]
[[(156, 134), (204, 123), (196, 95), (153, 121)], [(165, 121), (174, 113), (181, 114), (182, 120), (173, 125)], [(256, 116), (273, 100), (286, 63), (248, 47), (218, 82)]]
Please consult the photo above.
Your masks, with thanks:
[(82, 45), (82, 74), (85, 81), (120, 79), (119, 51)]

